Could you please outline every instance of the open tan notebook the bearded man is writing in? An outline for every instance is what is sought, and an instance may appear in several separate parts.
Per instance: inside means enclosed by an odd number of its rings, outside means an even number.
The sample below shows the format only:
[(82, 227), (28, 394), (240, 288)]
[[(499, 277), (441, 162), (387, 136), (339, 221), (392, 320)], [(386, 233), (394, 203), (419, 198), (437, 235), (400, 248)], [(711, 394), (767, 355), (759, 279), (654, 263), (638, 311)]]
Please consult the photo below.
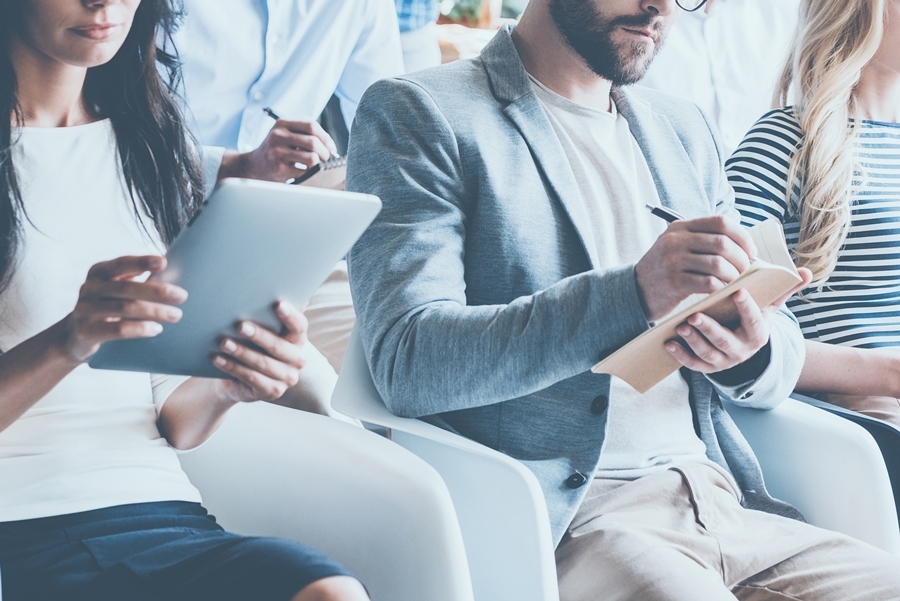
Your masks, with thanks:
[(681, 367), (665, 349), (665, 343), (678, 338), (675, 329), (688, 317), (702, 312), (723, 325), (736, 326), (737, 308), (731, 300), (732, 294), (744, 288), (757, 305), (765, 307), (802, 281), (777, 220), (769, 219), (748, 231), (759, 256), (740, 277), (718, 292), (692, 295), (669, 316), (597, 363), (591, 371), (616, 376), (643, 394)]

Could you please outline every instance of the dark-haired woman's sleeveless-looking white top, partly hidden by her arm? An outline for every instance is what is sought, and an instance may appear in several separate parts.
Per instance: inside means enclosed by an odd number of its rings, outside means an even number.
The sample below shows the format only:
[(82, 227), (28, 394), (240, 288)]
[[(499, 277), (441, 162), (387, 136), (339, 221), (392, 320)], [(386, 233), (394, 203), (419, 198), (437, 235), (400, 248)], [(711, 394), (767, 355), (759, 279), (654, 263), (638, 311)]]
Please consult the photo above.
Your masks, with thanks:
[[(30, 222), (23, 220), (19, 262), (0, 295), (2, 350), (71, 312), (94, 263), (164, 252), (152, 221), (144, 231), (135, 218), (108, 121), (18, 134), (13, 161)], [(159, 408), (181, 382), (75, 369), (0, 432), (0, 522), (199, 502), (156, 427)]]

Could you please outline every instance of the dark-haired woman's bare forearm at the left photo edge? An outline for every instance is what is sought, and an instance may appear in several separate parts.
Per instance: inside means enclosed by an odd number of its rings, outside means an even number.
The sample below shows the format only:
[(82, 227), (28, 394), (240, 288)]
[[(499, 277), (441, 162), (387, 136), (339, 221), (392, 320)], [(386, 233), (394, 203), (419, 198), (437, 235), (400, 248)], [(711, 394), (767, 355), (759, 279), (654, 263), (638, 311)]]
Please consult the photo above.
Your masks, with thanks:
[(62, 327), (59, 322), (0, 354), (0, 432), (80, 365), (61, 351)]

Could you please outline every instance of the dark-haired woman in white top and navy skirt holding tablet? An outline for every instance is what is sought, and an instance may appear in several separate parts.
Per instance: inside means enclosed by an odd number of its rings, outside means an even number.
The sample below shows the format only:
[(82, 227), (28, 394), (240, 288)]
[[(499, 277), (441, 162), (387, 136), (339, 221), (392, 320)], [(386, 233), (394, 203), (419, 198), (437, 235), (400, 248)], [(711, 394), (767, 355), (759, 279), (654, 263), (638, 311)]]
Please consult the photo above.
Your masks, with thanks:
[[(243, 322), (213, 359), (231, 379), (94, 371), (107, 340), (149, 337), (186, 292), (140, 276), (203, 182), (156, 41), (168, 0), (0, 3), (0, 569), (19, 599), (368, 599), (300, 544), (227, 533), (172, 447), (238, 402), (296, 383), (306, 322)], [(158, 65), (168, 73), (161, 79)]]

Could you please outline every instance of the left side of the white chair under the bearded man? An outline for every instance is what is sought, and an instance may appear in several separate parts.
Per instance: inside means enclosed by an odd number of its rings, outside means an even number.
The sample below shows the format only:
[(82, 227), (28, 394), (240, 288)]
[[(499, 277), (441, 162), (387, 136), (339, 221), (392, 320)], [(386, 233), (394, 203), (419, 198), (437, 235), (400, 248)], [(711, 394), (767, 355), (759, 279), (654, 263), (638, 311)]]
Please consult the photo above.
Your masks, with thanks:
[(332, 406), (389, 428), (395, 442), (440, 473), (459, 517), (476, 601), (558, 601), (547, 505), (528, 468), (469, 439), (393, 415), (372, 382), (358, 332), (350, 337)]

